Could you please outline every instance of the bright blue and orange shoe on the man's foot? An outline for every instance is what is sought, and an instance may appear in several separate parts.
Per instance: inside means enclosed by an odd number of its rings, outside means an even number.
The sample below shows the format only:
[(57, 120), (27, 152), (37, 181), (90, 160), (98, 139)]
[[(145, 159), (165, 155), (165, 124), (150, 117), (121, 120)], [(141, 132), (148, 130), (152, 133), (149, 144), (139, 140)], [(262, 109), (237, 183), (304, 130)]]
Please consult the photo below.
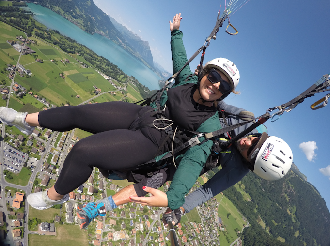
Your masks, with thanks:
[(98, 215), (105, 216), (106, 209), (102, 202), (99, 204), (89, 202), (83, 204), (81, 208), (78, 206), (76, 214), (80, 229), (86, 229), (92, 219), (96, 218)]

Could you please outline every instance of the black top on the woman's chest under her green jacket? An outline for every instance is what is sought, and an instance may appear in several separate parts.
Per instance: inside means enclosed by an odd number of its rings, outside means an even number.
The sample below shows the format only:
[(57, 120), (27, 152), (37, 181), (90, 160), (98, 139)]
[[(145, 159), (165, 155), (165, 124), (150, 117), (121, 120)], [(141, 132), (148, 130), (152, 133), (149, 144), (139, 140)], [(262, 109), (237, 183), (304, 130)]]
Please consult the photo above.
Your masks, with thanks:
[(208, 118), (212, 117), (217, 109), (198, 104), (193, 99), (197, 85), (193, 83), (170, 88), (167, 91), (165, 115), (175, 122), (181, 129), (196, 131)]

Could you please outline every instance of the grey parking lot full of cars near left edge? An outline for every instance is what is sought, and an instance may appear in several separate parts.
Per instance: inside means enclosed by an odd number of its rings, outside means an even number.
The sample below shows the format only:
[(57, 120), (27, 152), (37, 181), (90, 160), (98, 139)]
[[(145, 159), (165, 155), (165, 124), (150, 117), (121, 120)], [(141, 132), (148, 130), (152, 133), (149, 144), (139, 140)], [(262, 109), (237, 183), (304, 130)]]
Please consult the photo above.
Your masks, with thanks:
[(19, 173), (23, 164), (28, 158), (28, 154), (25, 154), (19, 150), (16, 150), (12, 146), (5, 143), (3, 147), (4, 167), (6, 170), (10, 170), (14, 173)]

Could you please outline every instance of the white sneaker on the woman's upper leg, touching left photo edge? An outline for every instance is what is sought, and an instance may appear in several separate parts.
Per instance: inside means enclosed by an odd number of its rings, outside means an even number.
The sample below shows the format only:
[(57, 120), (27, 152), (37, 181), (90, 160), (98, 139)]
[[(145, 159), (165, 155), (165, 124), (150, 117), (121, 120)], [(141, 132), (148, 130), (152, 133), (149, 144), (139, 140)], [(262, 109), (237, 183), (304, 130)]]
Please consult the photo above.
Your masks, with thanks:
[(26, 123), (25, 118), (28, 113), (26, 112), (17, 112), (12, 108), (7, 107), (0, 107), (0, 120), (1, 122), (7, 125), (14, 125), (16, 126), (22, 133), (26, 135), (30, 135), (33, 130), (34, 126), (28, 125)]

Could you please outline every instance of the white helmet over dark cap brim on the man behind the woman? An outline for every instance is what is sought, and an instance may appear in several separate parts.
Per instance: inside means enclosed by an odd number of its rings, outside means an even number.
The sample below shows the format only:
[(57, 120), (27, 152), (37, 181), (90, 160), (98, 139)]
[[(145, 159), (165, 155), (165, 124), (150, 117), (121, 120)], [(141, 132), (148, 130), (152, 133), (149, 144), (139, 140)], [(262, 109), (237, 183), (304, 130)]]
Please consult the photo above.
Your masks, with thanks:
[(279, 180), (291, 168), (292, 150), (281, 138), (263, 133), (248, 156), (253, 172), (266, 180)]

